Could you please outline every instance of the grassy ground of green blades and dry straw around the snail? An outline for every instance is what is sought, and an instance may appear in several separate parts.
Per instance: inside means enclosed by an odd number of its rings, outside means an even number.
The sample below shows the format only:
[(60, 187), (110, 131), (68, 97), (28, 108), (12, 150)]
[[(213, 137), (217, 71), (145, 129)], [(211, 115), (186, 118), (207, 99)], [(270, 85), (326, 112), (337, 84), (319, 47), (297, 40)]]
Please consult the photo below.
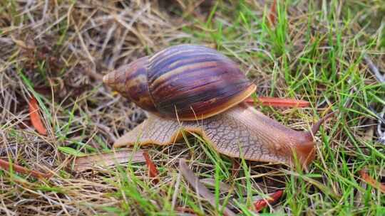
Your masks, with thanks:
[[(187, 158), (201, 179), (230, 185), (230, 193), (218, 186), (212, 191), (245, 215), (252, 214), (253, 196), (277, 189), (284, 196), (266, 213), (384, 215), (384, 194), (358, 171), (366, 168), (376, 180), (384, 176), (376, 112), (384, 107), (385, 87), (364, 55), (385, 70), (385, 4), (279, 2), (271, 13), (273, 1), (1, 1), (0, 156), (54, 173), (37, 180), (0, 171), (1, 215), (169, 215), (177, 207), (219, 214), (180, 178), (177, 158)], [(116, 137), (145, 118), (104, 86), (101, 76), (179, 43), (230, 56), (255, 80), (258, 95), (311, 102), (304, 109), (260, 107), (293, 129), (307, 130), (338, 109), (317, 134), (317, 159), (309, 171), (266, 163), (242, 163), (235, 171), (236, 161), (201, 139), (145, 147), (160, 171), (158, 184), (148, 178), (145, 163), (73, 171), (73, 158), (108, 151)], [(31, 125), (32, 96), (46, 136)]]

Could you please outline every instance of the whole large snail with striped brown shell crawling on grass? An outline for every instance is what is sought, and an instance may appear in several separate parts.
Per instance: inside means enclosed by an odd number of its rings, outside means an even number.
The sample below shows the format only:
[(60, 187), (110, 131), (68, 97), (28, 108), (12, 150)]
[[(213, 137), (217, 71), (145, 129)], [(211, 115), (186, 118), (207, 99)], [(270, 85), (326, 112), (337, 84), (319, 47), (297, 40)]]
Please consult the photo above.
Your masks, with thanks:
[(200, 134), (219, 153), (250, 161), (306, 166), (315, 156), (311, 131), (294, 131), (244, 102), (255, 92), (239, 66), (217, 50), (175, 45), (138, 58), (103, 82), (148, 112), (148, 119), (121, 136), (114, 147), (168, 145), (183, 131)]

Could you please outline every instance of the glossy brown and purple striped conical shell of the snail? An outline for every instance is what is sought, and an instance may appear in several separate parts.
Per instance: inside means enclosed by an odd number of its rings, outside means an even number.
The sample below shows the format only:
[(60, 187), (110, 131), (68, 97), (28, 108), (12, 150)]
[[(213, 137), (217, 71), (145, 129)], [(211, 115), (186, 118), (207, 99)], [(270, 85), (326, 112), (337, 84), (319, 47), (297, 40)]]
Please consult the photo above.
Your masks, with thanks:
[(175, 45), (139, 58), (103, 82), (149, 112), (180, 120), (224, 112), (256, 88), (230, 58), (201, 45)]

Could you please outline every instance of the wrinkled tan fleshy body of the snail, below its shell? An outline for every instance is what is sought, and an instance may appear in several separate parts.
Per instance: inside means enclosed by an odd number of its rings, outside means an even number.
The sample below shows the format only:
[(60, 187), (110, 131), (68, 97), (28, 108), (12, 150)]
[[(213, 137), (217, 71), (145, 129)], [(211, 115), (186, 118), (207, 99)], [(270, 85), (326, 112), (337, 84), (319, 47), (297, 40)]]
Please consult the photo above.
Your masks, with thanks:
[(175, 121), (150, 114), (142, 124), (120, 137), (114, 146), (173, 144), (183, 138), (183, 130), (200, 134), (218, 152), (234, 158), (287, 165), (298, 158), (304, 166), (314, 159), (311, 133), (282, 126), (246, 104), (197, 121)]

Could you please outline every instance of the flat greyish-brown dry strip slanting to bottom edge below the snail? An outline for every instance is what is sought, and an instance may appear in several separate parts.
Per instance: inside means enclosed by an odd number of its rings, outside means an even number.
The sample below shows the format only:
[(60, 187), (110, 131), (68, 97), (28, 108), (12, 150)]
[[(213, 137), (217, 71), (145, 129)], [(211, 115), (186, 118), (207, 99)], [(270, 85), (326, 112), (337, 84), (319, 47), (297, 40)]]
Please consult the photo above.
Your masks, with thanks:
[[(202, 196), (202, 198), (205, 198), (208, 202), (210, 202), (210, 204), (212, 206), (215, 207), (216, 206), (215, 196), (210, 192), (210, 190), (208, 190), (205, 187), (205, 185), (203, 185), (199, 181), (199, 179), (194, 175), (193, 171), (191, 171), (190, 168), (188, 168), (188, 165), (187, 165), (185, 159), (180, 159), (179, 170), (180, 170), (180, 173), (182, 173), (182, 175), (188, 181), (188, 183), (190, 183), (190, 185), (195, 190), (195, 192), (198, 195)], [(220, 206), (220, 208), (222, 208), (222, 207)], [(235, 213), (232, 212), (232, 210), (230, 210), (229, 208), (224, 206), (223, 207), (223, 215), (235, 216)]]

